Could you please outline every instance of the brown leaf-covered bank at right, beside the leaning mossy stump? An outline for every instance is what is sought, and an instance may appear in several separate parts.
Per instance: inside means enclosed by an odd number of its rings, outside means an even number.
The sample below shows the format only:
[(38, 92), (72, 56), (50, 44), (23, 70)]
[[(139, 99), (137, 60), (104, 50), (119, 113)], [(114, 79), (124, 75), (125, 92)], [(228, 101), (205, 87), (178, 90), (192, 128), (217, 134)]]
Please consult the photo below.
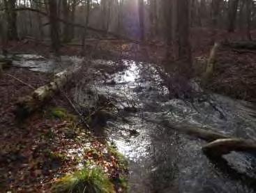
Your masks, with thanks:
[(221, 47), (206, 88), (232, 98), (256, 102), (256, 50)]

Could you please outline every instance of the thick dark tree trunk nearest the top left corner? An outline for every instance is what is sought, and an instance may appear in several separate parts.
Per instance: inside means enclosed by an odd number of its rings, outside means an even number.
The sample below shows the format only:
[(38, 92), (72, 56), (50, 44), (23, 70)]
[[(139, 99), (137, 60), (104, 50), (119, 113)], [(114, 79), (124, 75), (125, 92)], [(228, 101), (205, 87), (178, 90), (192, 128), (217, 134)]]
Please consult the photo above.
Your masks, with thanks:
[(6, 18), (8, 22), (7, 37), (8, 40), (17, 40), (17, 13), (15, 12), (16, 0), (4, 0), (6, 8)]

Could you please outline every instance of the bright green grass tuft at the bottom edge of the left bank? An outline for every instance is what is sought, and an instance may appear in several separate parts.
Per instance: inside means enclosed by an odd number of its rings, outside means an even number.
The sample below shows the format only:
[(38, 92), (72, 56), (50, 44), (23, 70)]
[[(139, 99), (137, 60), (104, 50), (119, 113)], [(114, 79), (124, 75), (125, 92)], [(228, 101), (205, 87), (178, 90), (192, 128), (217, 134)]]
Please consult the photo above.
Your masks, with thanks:
[(57, 180), (52, 192), (114, 193), (114, 185), (100, 167), (84, 168)]

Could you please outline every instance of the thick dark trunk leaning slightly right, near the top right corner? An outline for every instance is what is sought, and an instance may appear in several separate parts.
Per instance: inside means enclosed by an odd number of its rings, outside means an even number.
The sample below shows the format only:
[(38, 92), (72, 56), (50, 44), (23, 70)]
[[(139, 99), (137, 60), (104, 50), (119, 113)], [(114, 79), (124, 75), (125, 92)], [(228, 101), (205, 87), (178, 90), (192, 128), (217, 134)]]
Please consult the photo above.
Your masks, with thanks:
[(229, 11), (228, 11), (228, 32), (234, 32), (235, 26), (236, 26), (236, 13), (237, 13), (237, 8), (239, 5), (239, 0), (229, 0), (228, 6), (229, 6)]

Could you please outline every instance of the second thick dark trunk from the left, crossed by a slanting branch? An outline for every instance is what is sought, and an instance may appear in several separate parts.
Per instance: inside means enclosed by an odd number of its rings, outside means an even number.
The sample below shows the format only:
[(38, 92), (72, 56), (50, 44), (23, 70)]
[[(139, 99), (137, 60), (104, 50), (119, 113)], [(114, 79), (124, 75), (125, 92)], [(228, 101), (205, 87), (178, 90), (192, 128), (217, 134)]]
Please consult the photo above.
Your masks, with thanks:
[(51, 26), (51, 40), (52, 49), (56, 54), (59, 53), (59, 22), (57, 20), (57, 0), (48, 0), (50, 9), (50, 26)]

